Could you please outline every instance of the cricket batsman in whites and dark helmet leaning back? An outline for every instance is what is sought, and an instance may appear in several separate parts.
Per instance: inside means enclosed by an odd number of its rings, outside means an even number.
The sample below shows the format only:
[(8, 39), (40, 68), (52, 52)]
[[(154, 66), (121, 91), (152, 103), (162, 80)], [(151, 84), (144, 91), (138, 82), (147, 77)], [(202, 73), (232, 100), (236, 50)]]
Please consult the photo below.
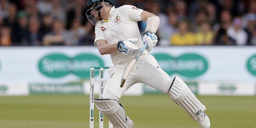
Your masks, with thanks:
[[(114, 65), (109, 69), (110, 76), (104, 87), (103, 99), (95, 99), (94, 102), (115, 128), (133, 126), (118, 101), (136, 83), (144, 83), (166, 93), (193, 120), (197, 120), (202, 128), (210, 128), (210, 119), (203, 112), (205, 106), (179, 77), (171, 80), (159, 67), (154, 56), (148, 54), (158, 41), (155, 34), (160, 21), (158, 16), (132, 5), (112, 7), (112, 0), (88, 0), (85, 11), (88, 20), (96, 25), (94, 44), (101, 55), (110, 54)], [(142, 39), (138, 21), (146, 22)], [(124, 86), (120, 87), (124, 69), (144, 43), (147, 44), (146, 51), (138, 59)]]

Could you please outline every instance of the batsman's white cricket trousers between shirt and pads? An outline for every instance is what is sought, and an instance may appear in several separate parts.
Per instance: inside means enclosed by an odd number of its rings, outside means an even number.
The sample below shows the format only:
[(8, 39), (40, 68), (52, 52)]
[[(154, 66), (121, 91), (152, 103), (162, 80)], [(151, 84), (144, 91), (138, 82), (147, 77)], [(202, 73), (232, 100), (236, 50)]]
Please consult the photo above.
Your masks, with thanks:
[(119, 101), (125, 91), (136, 83), (144, 83), (168, 94), (172, 80), (169, 75), (158, 66), (154, 56), (141, 56), (130, 72), (124, 86), (121, 88), (120, 83), (126, 66), (127, 63), (122, 63), (109, 68), (109, 79), (104, 87), (103, 99)]

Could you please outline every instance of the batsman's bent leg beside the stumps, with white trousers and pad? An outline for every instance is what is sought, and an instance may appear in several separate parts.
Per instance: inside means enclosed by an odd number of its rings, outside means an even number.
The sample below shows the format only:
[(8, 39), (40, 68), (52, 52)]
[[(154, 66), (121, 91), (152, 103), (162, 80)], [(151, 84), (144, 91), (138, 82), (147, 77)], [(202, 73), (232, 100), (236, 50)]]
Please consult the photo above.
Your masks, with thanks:
[(123, 106), (118, 102), (124, 92), (134, 83), (134, 71), (126, 80), (124, 87), (120, 87), (121, 77), (126, 65), (116, 65), (109, 69), (109, 79), (105, 84), (103, 99), (94, 102), (99, 111), (104, 114), (116, 128), (132, 128), (132, 120), (126, 116)]

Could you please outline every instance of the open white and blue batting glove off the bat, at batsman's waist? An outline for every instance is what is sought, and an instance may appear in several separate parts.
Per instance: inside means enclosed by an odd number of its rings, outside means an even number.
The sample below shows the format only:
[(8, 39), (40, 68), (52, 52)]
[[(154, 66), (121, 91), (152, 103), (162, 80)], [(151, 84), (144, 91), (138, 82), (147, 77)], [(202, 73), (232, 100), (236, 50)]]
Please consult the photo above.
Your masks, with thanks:
[(127, 39), (127, 41), (118, 41), (117, 49), (127, 55), (127, 56), (134, 56), (140, 50), (140, 47), (133, 43), (138, 43), (139, 39), (131, 38)]

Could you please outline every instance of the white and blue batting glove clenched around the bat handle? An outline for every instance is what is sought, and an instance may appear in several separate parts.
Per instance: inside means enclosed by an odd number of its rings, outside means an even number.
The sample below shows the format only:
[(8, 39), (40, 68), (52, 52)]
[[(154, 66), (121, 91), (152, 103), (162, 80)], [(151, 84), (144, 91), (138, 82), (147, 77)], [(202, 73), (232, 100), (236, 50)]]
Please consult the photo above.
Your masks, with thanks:
[(156, 46), (157, 41), (155, 32), (145, 31), (143, 33), (143, 43), (147, 44), (147, 52), (150, 52)]

